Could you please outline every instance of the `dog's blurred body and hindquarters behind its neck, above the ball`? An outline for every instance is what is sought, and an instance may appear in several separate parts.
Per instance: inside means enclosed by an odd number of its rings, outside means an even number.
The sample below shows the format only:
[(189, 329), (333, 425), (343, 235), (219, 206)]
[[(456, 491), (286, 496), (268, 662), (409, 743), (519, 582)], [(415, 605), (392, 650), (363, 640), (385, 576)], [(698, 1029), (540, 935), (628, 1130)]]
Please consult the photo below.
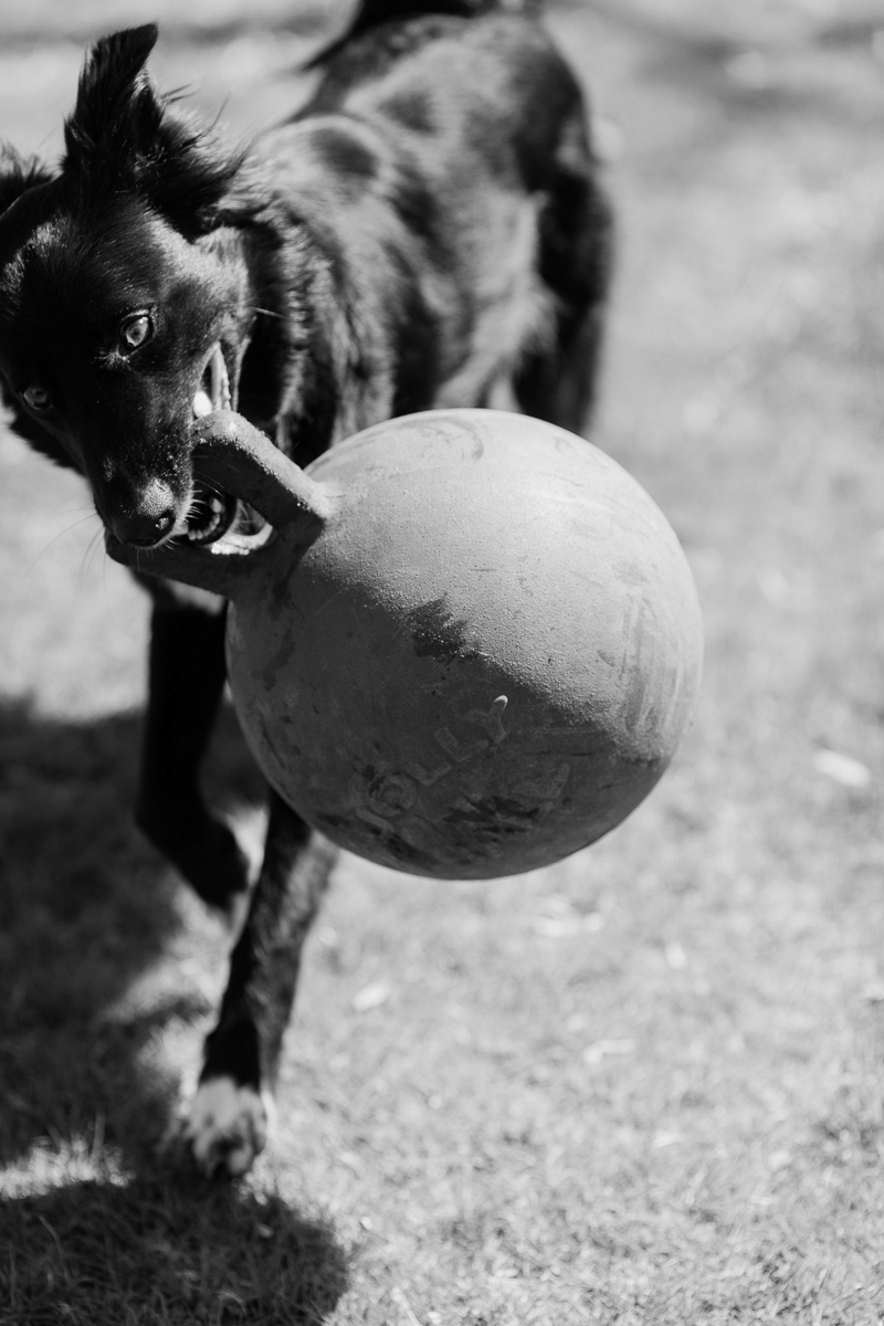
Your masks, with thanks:
[(580, 89), (529, 17), (439, 8), (363, 7), (258, 145), (359, 310), (366, 390), (335, 435), (486, 404), (579, 430), (610, 265)]

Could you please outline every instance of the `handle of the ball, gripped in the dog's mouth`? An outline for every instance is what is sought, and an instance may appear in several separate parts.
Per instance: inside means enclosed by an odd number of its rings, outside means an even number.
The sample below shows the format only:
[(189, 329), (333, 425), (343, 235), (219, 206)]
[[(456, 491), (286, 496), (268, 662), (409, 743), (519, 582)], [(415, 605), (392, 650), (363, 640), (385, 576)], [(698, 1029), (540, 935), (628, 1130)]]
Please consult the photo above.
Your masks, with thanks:
[(105, 546), (114, 561), (133, 570), (236, 598), (256, 562), (274, 556), (280, 538), (292, 558), (318, 538), (335, 495), (310, 479), (260, 428), (229, 410), (196, 420), (192, 436), (196, 480), (247, 501), (272, 526), (270, 537), (266, 530), (258, 536), (233, 534), (203, 546), (172, 540), (144, 552), (127, 548), (107, 532)]

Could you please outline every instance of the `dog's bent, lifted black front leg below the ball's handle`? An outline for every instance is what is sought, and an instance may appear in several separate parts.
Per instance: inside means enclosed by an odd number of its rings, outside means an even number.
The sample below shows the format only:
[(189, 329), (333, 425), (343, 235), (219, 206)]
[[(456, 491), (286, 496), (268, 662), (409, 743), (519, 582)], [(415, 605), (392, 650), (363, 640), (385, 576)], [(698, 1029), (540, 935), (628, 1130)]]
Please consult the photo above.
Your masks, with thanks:
[(224, 609), (155, 598), (135, 817), (200, 898), (231, 914), (248, 888), (249, 865), (199, 788), (224, 676)]

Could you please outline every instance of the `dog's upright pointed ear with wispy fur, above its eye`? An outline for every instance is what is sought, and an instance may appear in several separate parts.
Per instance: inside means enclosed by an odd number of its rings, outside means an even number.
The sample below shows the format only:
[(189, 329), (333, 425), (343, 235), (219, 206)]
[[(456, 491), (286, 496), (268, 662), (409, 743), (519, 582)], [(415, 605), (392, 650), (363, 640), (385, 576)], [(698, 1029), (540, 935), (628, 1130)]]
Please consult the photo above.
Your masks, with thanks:
[(144, 68), (155, 42), (151, 23), (93, 46), (65, 123), (65, 168), (97, 192), (133, 190), (184, 233), (204, 233), (243, 154), (220, 150), (159, 95)]

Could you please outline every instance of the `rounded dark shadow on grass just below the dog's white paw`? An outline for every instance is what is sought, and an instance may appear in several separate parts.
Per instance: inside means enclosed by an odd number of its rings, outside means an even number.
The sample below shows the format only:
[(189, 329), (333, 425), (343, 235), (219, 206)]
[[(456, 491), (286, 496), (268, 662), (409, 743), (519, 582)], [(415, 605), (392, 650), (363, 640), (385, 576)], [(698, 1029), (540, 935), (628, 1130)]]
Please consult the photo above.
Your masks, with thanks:
[(16, 1326), (318, 1326), (346, 1288), (345, 1256), (321, 1224), (196, 1179), (8, 1201), (0, 1245), (0, 1321)]

